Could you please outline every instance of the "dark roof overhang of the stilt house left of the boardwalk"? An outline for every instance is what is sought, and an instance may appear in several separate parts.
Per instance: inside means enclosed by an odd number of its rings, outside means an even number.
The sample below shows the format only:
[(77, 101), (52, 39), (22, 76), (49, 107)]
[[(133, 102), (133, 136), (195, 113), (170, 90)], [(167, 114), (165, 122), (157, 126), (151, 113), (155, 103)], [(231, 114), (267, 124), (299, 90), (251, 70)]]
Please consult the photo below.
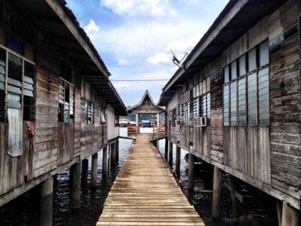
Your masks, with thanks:
[(85, 80), (115, 108), (116, 114), (127, 115), (124, 103), (109, 81), (110, 72), (65, 0), (10, 0), (10, 4), (76, 63)]

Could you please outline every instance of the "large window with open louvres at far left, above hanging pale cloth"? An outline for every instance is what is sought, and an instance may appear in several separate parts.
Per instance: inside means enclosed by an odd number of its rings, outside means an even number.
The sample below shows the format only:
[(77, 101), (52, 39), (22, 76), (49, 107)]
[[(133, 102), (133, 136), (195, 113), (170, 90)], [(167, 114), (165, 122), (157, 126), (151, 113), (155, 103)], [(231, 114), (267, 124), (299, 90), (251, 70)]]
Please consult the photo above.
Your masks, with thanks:
[(34, 63), (9, 49), (0, 48), (0, 122), (6, 118), (6, 94), (8, 110), (19, 109), (20, 121), (34, 120), (34, 81)]

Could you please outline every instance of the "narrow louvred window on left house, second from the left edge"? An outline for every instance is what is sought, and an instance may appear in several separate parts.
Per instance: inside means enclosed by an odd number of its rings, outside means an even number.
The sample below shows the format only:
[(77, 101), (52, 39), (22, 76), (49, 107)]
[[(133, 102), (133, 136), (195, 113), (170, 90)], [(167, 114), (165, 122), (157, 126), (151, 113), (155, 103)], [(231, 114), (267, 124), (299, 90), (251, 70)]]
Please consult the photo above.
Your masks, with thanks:
[(74, 122), (74, 85), (60, 78), (59, 122)]

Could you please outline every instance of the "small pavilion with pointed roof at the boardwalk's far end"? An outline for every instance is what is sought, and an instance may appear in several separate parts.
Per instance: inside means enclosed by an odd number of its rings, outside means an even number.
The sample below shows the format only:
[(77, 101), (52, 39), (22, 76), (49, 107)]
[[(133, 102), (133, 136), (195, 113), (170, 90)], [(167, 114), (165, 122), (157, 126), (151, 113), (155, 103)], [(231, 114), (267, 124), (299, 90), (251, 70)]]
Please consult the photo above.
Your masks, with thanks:
[(149, 92), (146, 90), (139, 103), (127, 107), (129, 113), (134, 112), (136, 114), (136, 126), (139, 126), (140, 114), (157, 114), (157, 126), (159, 126), (160, 119), (159, 114), (165, 111), (165, 107), (158, 106)]

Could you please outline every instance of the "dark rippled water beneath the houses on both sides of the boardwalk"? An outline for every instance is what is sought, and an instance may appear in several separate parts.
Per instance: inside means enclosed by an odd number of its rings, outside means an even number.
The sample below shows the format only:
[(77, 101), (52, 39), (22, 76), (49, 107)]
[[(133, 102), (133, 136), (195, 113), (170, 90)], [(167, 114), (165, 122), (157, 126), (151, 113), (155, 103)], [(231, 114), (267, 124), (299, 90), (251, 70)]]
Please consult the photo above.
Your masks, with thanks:
[[(151, 128), (141, 128), (141, 133), (152, 132)], [(120, 136), (126, 136), (126, 128), (120, 128)], [(54, 225), (95, 225), (105, 198), (115, 180), (115, 177), (122, 165), (126, 156), (127, 150), (131, 144), (131, 140), (119, 140), (119, 162), (116, 169), (109, 170), (106, 180), (101, 179), (102, 171), (102, 152), (98, 154), (98, 178), (97, 189), (90, 189), (90, 170), (88, 174), (88, 185), (81, 188), (81, 208), (78, 214), (71, 212), (70, 193), (69, 193), (69, 169), (61, 170), (58, 174), (54, 188), (54, 209), (53, 222)], [(165, 141), (160, 141), (160, 152), (164, 155)], [(175, 150), (175, 147), (174, 147)], [(181, 151), (181, 172), (180, 178), (184, 188), (187, 189), (188, 182), (188, 164), (184, 160), (184, 155), (187, 152)], [(175, 151), (174, 151), (175, 166)], [(89, 169), (91, 161), (89, 160)], [(224, 176), (227, 180), (227, 175)], [(195, 171), (195, 190), (211, 190), (212, 189), (212, 174)], [(246, 194), (246, 202), (239, 207), (239, 216), (241, 221), (236, 225), (277, 225), (276, 212), (268, 211), (266, 206), (256, 201), (250, 195), (248, 189), (241, 186), (240, 192)], [(12, 200), (6, 205), (0, 207), (0, 225), (39, 225), (39, 186)], [(225, 187), (223, 187), (223, 218), (231, 219), (231, 201), (230, 195)], [(229, 225), (230, 223), (214, 222), (211, 218), (212, 212), (212, 193), (194, 192), (190, 194), (196, 208), (205, 220), (206, 225)], [(275, 206), (271, 206), (275, 209)], [(251, 223), (247, 223), (249, 218), (255, 218)], [(246, 220), (245, 220), (246, 219)], [(258, 220), (259, 219), (259, 220)], [(264, 220), (260, 222), (260, 219)]]

